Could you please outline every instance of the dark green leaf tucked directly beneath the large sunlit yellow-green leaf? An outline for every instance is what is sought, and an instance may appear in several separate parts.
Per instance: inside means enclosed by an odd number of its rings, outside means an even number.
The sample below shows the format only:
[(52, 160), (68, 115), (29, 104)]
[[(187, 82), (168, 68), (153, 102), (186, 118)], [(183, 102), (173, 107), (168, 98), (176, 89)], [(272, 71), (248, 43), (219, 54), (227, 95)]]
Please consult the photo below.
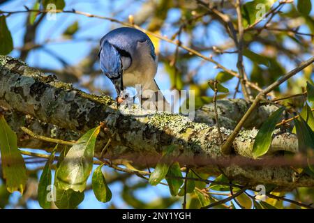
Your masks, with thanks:
[(72, 189), (62, 190), (59, 186), (59, 180), (54, 178), (56, 188), (56, 201), (54, 204), (60, 209), (74, 209), (84, 200), (84, 192), (76, 192)]

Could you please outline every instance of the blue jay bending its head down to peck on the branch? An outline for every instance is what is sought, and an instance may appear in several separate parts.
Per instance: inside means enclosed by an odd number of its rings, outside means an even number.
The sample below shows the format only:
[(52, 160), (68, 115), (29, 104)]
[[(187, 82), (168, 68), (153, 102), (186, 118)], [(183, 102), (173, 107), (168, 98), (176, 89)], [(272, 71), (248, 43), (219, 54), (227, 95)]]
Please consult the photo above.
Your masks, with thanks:
[[(170, 105), (155, 82), (157, 61), (153, 43), (138, 29), (122, 27), (100, 40), (100, 68), (121, 96), (126, 86), (140, 85), (140, 102), (145, 109), (170, 111)], [(119, 101), (119, 100), (118, 100)]]

